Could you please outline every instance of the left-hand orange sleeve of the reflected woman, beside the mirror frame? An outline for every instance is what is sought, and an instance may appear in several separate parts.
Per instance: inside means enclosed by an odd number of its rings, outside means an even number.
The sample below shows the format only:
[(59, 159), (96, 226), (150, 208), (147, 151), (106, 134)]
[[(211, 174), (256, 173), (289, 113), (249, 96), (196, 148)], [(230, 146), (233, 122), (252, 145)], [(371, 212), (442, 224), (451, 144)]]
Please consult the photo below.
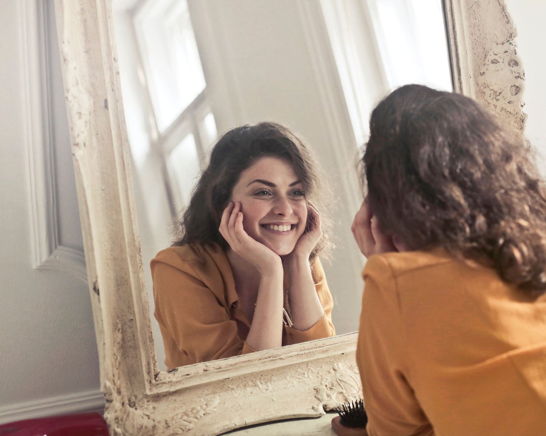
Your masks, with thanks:
[(191, 266), (183, 264), (182, 270), (152, 261), (151, 269), (154, 315), (169, 369), (254, 351), (239, 338), (236, 322)]

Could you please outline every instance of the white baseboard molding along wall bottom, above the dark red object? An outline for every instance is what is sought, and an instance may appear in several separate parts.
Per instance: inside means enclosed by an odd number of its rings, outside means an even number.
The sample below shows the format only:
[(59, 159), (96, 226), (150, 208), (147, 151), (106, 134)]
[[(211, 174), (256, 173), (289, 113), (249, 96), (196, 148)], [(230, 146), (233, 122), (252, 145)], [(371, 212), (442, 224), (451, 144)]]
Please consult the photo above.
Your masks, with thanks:
[(43, 416), (104, 412), (104, 395), (99, 390), (71, 393), (0, 406), (0, 424)]

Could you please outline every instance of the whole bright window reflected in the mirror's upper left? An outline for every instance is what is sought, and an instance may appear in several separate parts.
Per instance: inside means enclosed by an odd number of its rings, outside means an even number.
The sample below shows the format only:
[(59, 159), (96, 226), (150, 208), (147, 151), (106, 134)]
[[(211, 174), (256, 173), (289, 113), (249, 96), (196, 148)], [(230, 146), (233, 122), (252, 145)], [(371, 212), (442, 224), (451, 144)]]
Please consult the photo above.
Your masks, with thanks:
[[(140, 82), (127, 93), (123, 90), (129, 142), (137, 171), (149, 171), (145, 167), (150, 160), (144, 162), (147, 153), (160, 158), (171, 215), (175, 217), (187, 203), (207, 147), (217, 135), (188, 3), (147, 0), (125, 10), (125, 14), (125, 26), (123, 20), (116, 22), (118, 47), (120, 39), (125, 49), (132, 45), (133, 56), (123, 53), (130, 58), (126, 68), (132, 66), (136, 71), (133, 76), (138, 77), (133, 82)], [(129, 82), (122, 80), (122, 86)]]

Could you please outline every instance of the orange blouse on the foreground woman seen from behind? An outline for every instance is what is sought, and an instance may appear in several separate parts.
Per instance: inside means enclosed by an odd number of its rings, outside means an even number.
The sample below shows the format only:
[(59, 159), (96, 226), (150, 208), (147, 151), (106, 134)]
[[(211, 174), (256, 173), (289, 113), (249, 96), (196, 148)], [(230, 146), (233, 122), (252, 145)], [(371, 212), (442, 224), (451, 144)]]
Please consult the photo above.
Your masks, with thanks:
[(546, 295), (442, 250), (371, 256), (363, 277), (369, 436), (546, 435)]

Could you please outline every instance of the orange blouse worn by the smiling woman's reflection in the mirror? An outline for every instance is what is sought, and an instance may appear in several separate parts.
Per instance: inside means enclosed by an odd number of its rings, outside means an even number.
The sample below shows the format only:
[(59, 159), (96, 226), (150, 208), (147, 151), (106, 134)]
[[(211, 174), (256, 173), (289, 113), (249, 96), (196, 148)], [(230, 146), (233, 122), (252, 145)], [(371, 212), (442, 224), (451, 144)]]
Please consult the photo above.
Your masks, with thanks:
[[(251, 323), (240, 310), (232, 268), (221, 247), (169, 247), (157, 253), (150, 268), (154, 316), (169, 370), (254, 352), (245, 342)], [(335, 335), (331, 320), (334, 302), (318, 258), (311, 273), (324, 316), (306, 331), (284, 325), (283, 345)]]

